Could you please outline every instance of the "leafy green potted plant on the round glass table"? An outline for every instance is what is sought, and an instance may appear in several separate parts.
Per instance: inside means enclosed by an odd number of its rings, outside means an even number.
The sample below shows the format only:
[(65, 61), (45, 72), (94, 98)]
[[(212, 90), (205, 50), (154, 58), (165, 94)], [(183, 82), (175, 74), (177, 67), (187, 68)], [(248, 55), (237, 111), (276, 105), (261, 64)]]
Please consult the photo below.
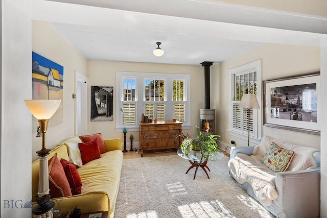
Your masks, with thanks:
[(215, 139), (220, 135), (204, 135), (199, 127), (196, 127), (196, 137), (192, 138), (188, 133), (182, 133), (177, 137), (183, 137), (180, 149), (184, 154), (189, 151), (201, 152), (202, 158), (206, 158), (210, 152), (217, 151), (218, 144)]

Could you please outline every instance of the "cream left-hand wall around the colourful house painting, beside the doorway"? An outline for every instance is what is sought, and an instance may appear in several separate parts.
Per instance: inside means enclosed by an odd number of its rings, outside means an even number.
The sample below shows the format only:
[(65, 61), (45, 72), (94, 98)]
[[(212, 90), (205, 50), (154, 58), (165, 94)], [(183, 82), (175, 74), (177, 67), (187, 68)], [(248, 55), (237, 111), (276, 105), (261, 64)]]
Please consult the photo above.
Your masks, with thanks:
[[(63, 66), (63, 122), (55, 126), (51, 126), (51, 120), (49, 122), (45, 143), (46, 148), (51, 149), (66, 137), (74, 135), (76, 100), (73, 100), (72, 94), (75, 92), (75, 70), (87, 76), (87, 60), (45, 21), (33, 20), (32, 22), (32, 49), (33, 52)], [(37, 158), (35, 152), (42, 146), (42, 137), (35, 137), (35, 132), (36, 130), (33, 130), (32, 134), (33, 160)]]

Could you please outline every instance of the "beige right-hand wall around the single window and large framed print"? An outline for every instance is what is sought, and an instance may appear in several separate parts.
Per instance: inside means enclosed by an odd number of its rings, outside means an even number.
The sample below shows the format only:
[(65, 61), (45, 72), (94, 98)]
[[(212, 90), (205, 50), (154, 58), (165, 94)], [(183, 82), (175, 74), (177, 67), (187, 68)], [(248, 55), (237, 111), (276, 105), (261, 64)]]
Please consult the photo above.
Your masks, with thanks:
[[(216, 126), (221, 135), (220, 146), (224, 149), (231, 140), (237, 146), (246, 145), (247, 141), (231, 136), (228, 129), (228, 70), (255, 60), (262, 60), (262, 80), (298, 75), (320, 69), (320, 50), (318, 47), (293, 46), (281, 44), (264, 44), (255, 49), (231, 58), (223, 63), (213, 66), (213, 80), (220, 84), (214, 91), (213, 104), (216, 105)], [(262, 126), (262, 135), (301, 144), (303, 146), (320, 148), (320, 136), (303, 134), (294, 131), (281, 130)]]

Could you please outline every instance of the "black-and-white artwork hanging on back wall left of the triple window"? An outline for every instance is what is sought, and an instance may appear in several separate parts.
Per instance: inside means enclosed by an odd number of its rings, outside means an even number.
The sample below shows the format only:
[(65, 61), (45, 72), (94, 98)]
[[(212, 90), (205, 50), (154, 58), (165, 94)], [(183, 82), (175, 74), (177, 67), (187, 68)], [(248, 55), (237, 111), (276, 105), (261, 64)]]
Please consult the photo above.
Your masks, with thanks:
[(91, 86), (91, 121), (113, 120), (113, 87)]

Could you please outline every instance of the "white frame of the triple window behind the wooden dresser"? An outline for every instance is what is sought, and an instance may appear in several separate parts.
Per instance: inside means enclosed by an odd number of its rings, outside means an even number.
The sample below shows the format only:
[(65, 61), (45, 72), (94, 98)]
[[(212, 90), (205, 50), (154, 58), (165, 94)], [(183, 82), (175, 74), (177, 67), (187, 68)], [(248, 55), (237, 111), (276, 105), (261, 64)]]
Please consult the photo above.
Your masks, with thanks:
[[(123, 125), (123, 80), (135, 79), (135, 124)], [(155, 79), (164, 80), (164, 101), (145, 101), (145, 80)], [(173, 81), (183, 80), (183, 93), (185, 104), (185, 122), (182, 124), (183, 129), (191, 128), (191, 76), (190, 74), (165, 74), (153, 72), (126, 72), (116, 71), (116, 131), (122, 132), (124, 127), (129, 131), (139, 131), (139, 122), (141, 122), (141, 114), (145, 113), (146, 104), (165, 104), (165, 118), (170, 120), (174, 117), (174, 104), (173, 101)], [(156, 108), (156, 107), (155, 107)], [(156, 110), (156, 109), (155, 109)]]

